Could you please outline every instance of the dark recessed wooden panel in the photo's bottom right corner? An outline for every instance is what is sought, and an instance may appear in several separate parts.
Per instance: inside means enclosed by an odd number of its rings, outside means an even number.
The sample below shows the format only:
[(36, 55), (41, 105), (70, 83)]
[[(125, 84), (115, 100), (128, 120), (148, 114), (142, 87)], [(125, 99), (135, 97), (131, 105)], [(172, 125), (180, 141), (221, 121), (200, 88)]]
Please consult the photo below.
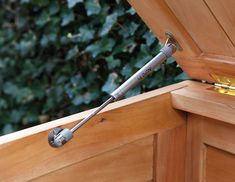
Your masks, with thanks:
[(235, 155), (213, 147), (207, 148), (206, 182), (234, 182)]

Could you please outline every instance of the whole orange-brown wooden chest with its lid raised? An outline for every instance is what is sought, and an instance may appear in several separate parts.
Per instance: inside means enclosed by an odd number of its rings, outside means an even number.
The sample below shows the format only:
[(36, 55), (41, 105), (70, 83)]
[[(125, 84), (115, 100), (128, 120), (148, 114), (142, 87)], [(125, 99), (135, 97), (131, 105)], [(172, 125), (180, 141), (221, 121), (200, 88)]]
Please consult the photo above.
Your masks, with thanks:
[[(91, 111), (0, 137), (0, 181), (234, 182), (235, 1), (129, 0), (195, 80), (111, 104), (62, 148), (51, 129)], [(218, 86), (217, 86), (218, 87)]]

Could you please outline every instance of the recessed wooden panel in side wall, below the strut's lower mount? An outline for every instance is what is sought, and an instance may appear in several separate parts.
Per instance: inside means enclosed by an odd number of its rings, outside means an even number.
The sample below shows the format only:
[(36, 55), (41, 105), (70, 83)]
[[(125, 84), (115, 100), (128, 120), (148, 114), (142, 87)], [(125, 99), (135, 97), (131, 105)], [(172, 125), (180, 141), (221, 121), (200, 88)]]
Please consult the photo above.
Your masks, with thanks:
[(35, 182), (143, 182), (152, 180), (153, 136), (39, 177)]

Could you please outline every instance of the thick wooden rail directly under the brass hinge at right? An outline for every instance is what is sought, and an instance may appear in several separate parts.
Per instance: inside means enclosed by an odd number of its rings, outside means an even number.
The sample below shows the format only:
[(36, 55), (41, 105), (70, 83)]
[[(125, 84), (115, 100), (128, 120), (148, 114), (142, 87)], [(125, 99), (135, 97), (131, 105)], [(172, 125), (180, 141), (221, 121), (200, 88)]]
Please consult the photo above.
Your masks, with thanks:
[(208, 87), (213, 88), (210, 85), (198, 84), (173, 91), (173, 107), (235, 124), (235, 97), (217, 93)]

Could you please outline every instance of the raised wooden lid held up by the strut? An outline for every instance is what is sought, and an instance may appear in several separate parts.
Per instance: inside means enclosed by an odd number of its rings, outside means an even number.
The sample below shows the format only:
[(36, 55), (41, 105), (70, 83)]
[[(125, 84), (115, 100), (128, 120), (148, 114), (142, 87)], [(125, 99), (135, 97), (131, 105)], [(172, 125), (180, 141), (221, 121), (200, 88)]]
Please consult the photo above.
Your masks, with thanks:
[(162, 42), (165, 32), (174, 35), (183, 48), (174, 57), (190, 77), (227, 84), (235, 81), (234, 0), (129, 3)]

